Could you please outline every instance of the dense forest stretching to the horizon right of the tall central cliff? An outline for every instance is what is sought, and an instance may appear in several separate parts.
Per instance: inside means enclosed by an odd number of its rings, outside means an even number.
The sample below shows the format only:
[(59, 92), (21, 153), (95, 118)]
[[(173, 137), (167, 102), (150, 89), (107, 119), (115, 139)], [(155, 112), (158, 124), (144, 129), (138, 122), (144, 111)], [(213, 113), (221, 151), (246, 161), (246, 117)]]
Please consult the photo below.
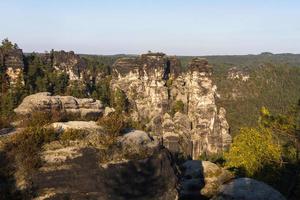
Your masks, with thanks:
[[(261, 107), (288, 113), (300, 98), (300, 55), (271, 54), (204, 56), (213, 66), (217, 104), (226, 108), (231, 133), (253, 126)], [(179, 57), (183, 69), (192, 57)], [(249, 75), (247, 81), (229, 78), (231, 69)]]

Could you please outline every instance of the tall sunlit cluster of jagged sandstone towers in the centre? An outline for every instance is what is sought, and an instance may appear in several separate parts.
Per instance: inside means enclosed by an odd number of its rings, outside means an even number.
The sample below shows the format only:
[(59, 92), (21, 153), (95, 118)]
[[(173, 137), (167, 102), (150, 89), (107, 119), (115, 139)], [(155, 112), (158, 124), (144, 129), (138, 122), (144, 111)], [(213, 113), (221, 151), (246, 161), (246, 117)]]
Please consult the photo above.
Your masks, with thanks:
[[(111, 85), (124, 91), (134, 119), (145, 123), (164, 146), (197, 159), (225, 150), (231, 136), (226, 111), (215, 103), (212, 67), (195, 58), (187, 68), (181, 71), (176, 57), (161, 53), (122, 58), (113, 66)], [(182, 110), (172, 113), (178, 102)]]

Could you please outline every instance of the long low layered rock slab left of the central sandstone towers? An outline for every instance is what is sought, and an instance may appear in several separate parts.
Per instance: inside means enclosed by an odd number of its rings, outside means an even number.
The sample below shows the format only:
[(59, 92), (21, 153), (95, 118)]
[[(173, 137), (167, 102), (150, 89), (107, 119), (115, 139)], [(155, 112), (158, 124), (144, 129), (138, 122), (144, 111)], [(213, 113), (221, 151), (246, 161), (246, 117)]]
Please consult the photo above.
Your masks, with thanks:
[(101, 116), (103, 109), (99, 100), (78, 99), (72, 96), (51, 96), (48, 92), (41, 92), (25, 97), (14, 111), (18, 115), (30, 115), (36, 111), (51, 112), (56, 110), (89, 119)]

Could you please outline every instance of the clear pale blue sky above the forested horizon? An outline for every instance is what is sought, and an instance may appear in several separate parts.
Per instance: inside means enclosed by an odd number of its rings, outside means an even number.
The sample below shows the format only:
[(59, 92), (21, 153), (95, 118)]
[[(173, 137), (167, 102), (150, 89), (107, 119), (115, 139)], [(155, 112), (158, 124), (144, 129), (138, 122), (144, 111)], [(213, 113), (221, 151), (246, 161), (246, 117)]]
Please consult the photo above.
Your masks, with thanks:
[(24, 52), (300, 53), (299, 0), (0, 0)]

